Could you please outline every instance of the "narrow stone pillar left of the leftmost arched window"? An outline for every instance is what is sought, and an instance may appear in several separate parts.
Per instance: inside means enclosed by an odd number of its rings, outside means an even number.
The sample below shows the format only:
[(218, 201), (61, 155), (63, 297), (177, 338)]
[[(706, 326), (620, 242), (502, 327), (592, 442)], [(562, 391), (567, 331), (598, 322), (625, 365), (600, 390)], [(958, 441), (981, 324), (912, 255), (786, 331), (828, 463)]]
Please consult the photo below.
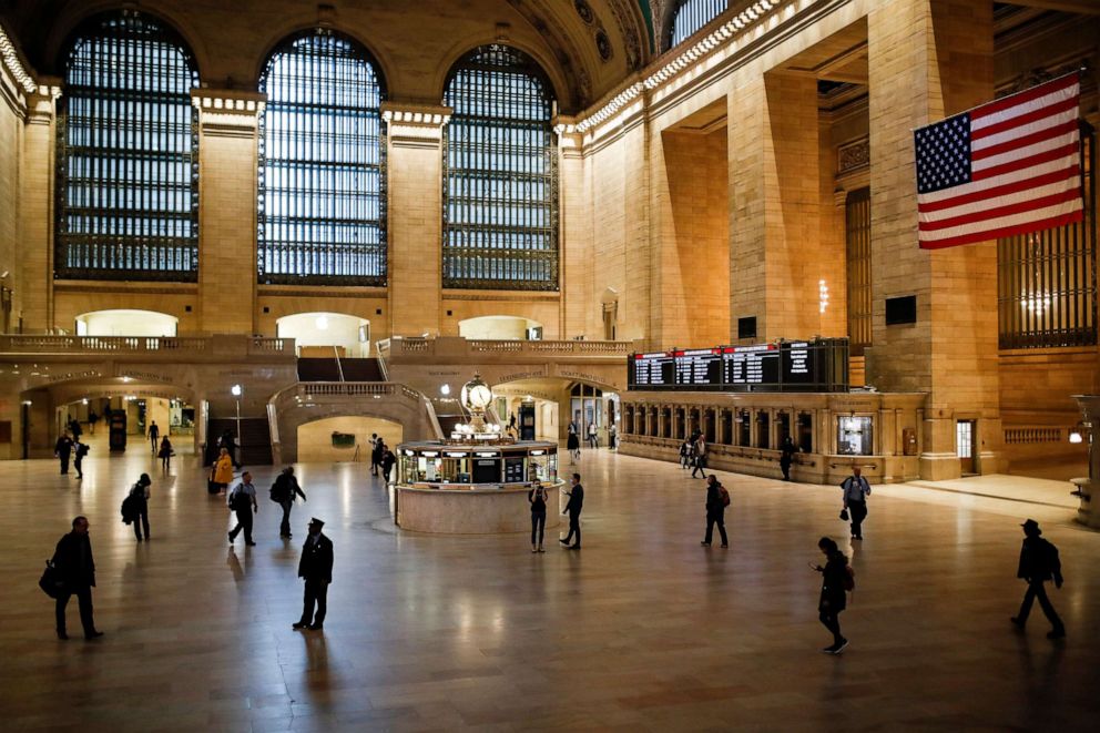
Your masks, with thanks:
[[(57, 86), (43, 85), (27, 98), (18, 200), (21, 255), (17, 266), (23, 332), (29, 334), (42, 334), (57, 325), (53, 323), (53, 163), (58, 96)], [(13, 205), (14, 201), (8, 203)], [(13, 310), (12, 328), (17, 324), (18, 314)]]

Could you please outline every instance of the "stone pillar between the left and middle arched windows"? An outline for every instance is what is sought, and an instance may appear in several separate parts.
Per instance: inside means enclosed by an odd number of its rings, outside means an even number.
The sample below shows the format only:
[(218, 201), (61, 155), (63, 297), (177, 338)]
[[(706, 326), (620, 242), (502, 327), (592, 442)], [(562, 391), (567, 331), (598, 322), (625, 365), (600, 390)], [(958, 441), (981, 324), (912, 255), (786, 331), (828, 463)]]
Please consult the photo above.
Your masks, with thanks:
[(265, 94), (196, 89), (198, 328), (256, 332), (258, 120)]

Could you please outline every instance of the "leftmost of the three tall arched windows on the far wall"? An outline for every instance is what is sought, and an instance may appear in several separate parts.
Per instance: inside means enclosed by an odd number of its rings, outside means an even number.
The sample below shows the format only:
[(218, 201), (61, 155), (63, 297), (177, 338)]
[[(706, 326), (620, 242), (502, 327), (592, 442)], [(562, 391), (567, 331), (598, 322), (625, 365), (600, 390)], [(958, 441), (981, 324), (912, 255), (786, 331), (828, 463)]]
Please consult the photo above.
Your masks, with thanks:
[(194, 282), (198, 71), (167, 27), (135, 10), (73, 34), (58, 108), (54, 276)]

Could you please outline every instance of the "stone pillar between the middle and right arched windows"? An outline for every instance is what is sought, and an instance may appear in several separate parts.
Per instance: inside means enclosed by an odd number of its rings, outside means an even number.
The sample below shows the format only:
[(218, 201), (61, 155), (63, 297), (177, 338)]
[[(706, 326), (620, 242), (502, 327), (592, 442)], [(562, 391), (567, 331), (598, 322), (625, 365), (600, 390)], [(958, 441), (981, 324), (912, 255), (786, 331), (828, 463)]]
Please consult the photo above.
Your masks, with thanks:
[[(442, 135), (449, 108), (383, 104), (389, 170), (390, 335), (440, 333)], [(400, 324), (400, 333), (395, 333)]]

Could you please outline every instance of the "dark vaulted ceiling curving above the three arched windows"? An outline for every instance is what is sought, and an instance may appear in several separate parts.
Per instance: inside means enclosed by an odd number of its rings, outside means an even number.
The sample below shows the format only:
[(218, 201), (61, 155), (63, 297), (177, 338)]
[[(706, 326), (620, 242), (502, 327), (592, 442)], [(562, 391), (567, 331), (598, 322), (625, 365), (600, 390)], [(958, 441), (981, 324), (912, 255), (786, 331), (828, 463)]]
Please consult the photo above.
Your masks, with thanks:
[[(72, 30), (88, 16), (136, 8), (192, 45), (205, 83), (254, 86), (285, 35), (328, 26), (360, 40), (396, 98), (438, 101), (447, 69), (465, 51), (502, 41), (546, 69), (563, 111), (610, 91), (656, 52), (655, 32), (675, 0), (6, 0), (0, 21), (39, 72), (58, 77)], [(651, 8), (652, 6), (652, 8)], [(656, 23), (658, 28), (654, 27)]]

